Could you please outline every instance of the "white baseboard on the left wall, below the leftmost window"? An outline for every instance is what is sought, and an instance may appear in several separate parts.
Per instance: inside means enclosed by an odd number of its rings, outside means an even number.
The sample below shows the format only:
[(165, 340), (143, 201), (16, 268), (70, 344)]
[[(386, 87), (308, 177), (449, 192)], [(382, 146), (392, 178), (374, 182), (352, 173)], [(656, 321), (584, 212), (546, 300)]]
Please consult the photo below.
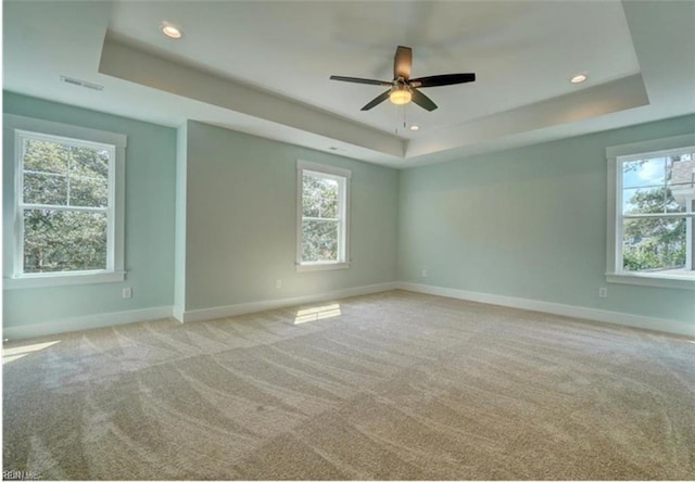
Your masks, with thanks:
[(55, 319), (42, 324), (2, 327), (2, 339), (22, 340), (25, 338), (43, 337), (48, 334), (59, 334), (68, 331), (89, 330), (91, 328), (104, 328), (139, 321), (151, 321), (170, 317), (172, 306), (156, 306), (153, 308), (131, 309), (128, 312), (76, 316)]

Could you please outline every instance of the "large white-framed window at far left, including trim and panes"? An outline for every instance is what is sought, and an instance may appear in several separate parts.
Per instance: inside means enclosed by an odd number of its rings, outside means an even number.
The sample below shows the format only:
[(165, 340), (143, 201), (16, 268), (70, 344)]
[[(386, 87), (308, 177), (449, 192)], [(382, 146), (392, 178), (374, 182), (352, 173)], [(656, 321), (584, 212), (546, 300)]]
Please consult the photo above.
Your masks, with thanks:
[(15, 152), (14, 266), (5, 287), (123, 280), (125, 137), (27, 117), (4, 122)]

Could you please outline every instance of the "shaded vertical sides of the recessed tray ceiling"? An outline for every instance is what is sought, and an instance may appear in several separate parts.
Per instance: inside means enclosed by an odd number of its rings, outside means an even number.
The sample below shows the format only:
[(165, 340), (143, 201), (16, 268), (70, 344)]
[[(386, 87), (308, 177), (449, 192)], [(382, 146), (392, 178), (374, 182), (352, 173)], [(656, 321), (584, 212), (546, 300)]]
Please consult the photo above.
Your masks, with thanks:
[[(412, 157), (437, 154), (493, 138), (579, 122), (648, 104), (642, 76), (635, 74), (475, 119), (424, 136), (420, 139), (407, 140), (349, 119), (341, 119), (332, 113), (323, 112), (274, 92), (247, 86), (198, 66), (186, 65), (167, 55), (139, 48), (131, 41), (121, 39), (111, 33), (108, 33), (104, 39), (99, 72), (141, 86), (312, 132), (328, 140), (341, 141), (404, 160), (400, 164), (401, 166), (420, 164), (408, 162), (407, 160)], [(200, 120), (206, 122), (206, 119)], [(393, 162), (389, 164), (393, 164)]]

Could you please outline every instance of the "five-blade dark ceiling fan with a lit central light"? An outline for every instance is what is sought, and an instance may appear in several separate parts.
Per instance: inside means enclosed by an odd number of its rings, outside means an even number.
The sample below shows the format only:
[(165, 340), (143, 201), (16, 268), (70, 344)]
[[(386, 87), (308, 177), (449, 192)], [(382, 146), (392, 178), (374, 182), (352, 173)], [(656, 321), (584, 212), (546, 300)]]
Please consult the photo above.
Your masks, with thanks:
[(402, 105), (413, 101), (427, 111), (437, 109), (432, 100), (417, 90), (425, 87), (451, 86), (454, 84), (465, 84), (476, 81), (476, 74), (444, 74), (431, 75), (429, 77), (410, 78), (410, 67), (413, 66), (413, 49), (399, 46), (393, 59), (393, 80), (375, 80), (370, 78), (342, 77), (331, 75), (331, 80), (342, 80), (344, 83), (370, 84), (372, 86), (389, 86), (389, 90), (374, 99), (362, 107), (368, 111), (389, 99), (392, 103)]

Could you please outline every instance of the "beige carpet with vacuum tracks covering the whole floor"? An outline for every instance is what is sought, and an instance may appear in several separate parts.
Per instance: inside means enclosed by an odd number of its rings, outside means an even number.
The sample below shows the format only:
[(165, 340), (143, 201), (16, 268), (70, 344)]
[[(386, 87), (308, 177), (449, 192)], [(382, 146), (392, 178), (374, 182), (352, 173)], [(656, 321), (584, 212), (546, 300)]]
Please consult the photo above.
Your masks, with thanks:
[(695, 479), (685, 338), (393, 291), (3, 357), (41, 479)]

